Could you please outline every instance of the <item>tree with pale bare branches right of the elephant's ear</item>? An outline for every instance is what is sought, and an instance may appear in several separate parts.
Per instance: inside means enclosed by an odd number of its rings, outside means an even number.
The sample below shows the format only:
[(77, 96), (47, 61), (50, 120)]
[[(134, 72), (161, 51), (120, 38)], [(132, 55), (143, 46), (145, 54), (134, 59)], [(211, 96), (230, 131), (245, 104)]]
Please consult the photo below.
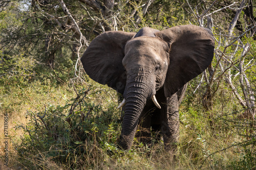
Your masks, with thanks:
[[(204, 78), (206, 82), (206, 91), (203, 94), (203, 105), (206, 110), (210, 110), (212, 107), (212, 99), (216, 94), (218, 87), (220, 85), (221, 79), (225, 80), (225, 83), (229, 85), (232, 89), (233, 94), (237, 97), (240, 104), (244, 107), (245, 112), (243, 116), (249, 117), (254, 120), (255, 117), (255, 98), (253, 89), (254, 81), (250, 81), (251, 71), (255, 70), (255, 32), (256, 25), (253, 17), (253, 5), (252, 1), (246, 2), (242, 1), (240, 4), (232, 3), (230, 5), (224, 6), (221, 9), (210, 12), (212, 7), (216, 4), (214, 1), (207, 10), (203, 11), (200, 15), (197, 7), (196, 13), (187, 1), (189, 8), (193, 12), (195, 18), (197, 19), (201, 27), (205, 27), (204, 18), (207, 17), (207, 27), (214, 30), (217, 37), (216, 39), (216, 49), (215, 57), (217, 59), (215, 67), (210, 66), (209, 77), (204, 73)], [(225, 10), (227, 8), (236, 11), (232, 20), (229, 23), (227, 30), (219, 29), (215, 27), (215, 23), (212, 22), (211, 17), (214, 18), (216, 12), (220, 10)], [(235, 7), (235, 8), (234, 8)], [(245, 12), (244, 12), (245, 11)], [(251, 11), (251, 12), (248, 12)], [(241, 17), (241, 13), (244, 12), (244, 18)], [(218, 14), (217, 14), (218, 15)], [(210, 23), (210, 24), (209, 24)], [(244, 23), (244, 25), (239, 25), (238, 23)], [(211, 27), (209, 27), (211, 26)], [(227, 28), (227, 27), (226, 27)], [(237, 28), (237, 30), (234, 30)], [(224, 34), (222, 33), (224, 31)], [(236, 34), (235, 36), (233, 34)], [(254, 37), (254, 38), (253, 38)], [(239, 79), (238, 79), (239, 77)], [(203, 81), (201, 79), (200, 85)], [(234, 85), (234, 82), (239, 82), (238, 86)], [(213, 86), (216, 85), (214, 89)], [(254, 87), (253, 87), (254, 86)], [(242, 91), (242, 93), (240, 92)]]

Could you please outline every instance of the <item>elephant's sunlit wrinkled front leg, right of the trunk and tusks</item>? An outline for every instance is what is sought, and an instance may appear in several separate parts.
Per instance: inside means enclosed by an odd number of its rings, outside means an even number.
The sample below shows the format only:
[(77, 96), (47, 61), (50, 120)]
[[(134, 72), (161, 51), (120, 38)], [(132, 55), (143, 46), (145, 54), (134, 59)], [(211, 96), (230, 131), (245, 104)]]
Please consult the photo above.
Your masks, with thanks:
[(179, 140), (179, 104), (176, 94), (166, 99), (166, 106), (162, 113), (161, 131), (164, 149), (175, 155)]

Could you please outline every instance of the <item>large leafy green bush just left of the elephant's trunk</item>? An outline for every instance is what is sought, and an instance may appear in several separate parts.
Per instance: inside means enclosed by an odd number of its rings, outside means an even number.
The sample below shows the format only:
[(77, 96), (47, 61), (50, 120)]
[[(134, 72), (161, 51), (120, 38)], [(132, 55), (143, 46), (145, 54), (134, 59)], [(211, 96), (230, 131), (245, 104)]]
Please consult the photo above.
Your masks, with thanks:
[[(28, 124), (15, 127), (15, 130), (23, 129), (25, 132), (22, 142), (16, 144), (21, 159), (29, 161), (27, 158), (35, 156), (38, 161), (51, 159), (80, 169), (91, 167), (95, 154), (99, 154), (97, 152), (113, 156), (120, 132), (119, 113), (112, 104), (103, 109), (91, 103), (90, 95), (86, 96), (84, 92), (81, 90), (79, 99), (73, 99), (64, 106), (48, 105), (42, 111), (27, 112)], [(69, 112), (72, 114), (68, 115)], [(103, 155), (97, 157), (103, 159)], [(88, 162), (81, 165), (83, 159)], [(44, 164), (36, 167), (46, 168)]]

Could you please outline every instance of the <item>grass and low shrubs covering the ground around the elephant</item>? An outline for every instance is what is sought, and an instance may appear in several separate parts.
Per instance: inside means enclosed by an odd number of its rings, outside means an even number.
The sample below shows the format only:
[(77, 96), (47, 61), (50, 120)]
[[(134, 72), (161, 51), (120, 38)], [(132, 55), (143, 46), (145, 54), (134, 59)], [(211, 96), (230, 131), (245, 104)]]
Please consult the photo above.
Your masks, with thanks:
[[(118, 94), (111, 88), (95, 83), (86, 75), (83, 81), (71, 79), (73, 69), (69, 66), (49, 71), (36, 64), (24, 67), (35, 61), (22, 57), (19, 61), (20, 64), (14, 65), (14, 61), (6, 61), (9, 72), (2, 77), (0, 87), (1, 112), (10, 117), (12, 169), (253, 169), (256, 166), (255, 138), (251, 137), (255, 128), (248, 119), (239, 117), (244, 110), (224, 85), (219, 87), (214, 107), (206, 112), (201, 103), (203, 89), (194, 94), (197, 79), (189, 83), (180, 106), (178, 152), (172, 160), (172, 155), (163, 150), (163, 141), (153, 140), (154, 144), (147, 146), (135, 139), (130, 151), (118, 149), (122, 114), (116, 109)], [(71, 62), (62, 62), (61, 67)], [(18, 76), (13, 74), (15, 71)], [(4, 155), (2, 149), (1, 154)], [(0, 167), (6, 168), (3, 163)]]

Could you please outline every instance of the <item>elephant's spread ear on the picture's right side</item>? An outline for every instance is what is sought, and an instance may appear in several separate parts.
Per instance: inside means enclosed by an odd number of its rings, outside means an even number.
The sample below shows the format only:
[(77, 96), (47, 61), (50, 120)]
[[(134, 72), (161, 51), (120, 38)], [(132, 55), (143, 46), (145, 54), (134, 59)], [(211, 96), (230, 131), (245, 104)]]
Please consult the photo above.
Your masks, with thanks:
[(169, 97), (209, 66), (215, 40), (210, 30), (194, 25), (172, 27), (155, 35), (169, 45), (169, 66), (164, 82), (165, 97)]

